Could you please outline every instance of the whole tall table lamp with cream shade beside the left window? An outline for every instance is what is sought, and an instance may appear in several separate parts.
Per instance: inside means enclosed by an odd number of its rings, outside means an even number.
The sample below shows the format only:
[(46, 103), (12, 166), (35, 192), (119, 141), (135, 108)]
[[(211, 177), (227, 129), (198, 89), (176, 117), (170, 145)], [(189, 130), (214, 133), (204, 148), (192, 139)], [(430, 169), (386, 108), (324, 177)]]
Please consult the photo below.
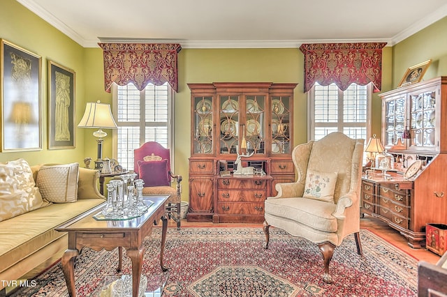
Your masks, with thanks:
[(101, 171), (103, 168), (103, 137), (107, 136), (107, 133), (102, 129), (117, 128), (117, 123), (115, 123), (115, 120), (113, 119), (110, 105), (101, 103), (99, 100), (97, 102), (87, 102), (84, 116), (82, 116), (78, 127), (98, 128), (97, 131), (93, 132), (93, 136), (98, 137), (96, 140), (96, 142), (98, 142), (98, 158), (95, 161), (95, 169)]

